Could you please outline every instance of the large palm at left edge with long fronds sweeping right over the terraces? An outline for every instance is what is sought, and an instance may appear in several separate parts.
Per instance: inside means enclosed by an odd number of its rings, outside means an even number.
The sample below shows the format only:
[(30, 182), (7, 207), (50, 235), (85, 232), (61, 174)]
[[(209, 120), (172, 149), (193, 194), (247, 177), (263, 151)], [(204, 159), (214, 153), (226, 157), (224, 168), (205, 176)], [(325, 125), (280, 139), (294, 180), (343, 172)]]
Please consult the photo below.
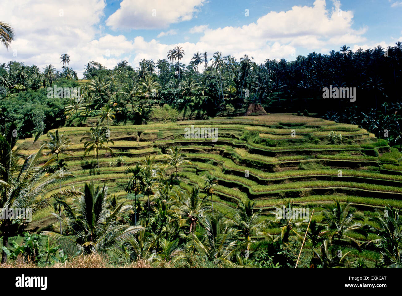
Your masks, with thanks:
[[(68, 172), (60, 176), (58, 172), (49, 174), (46, 169), (52, 161), (43, 164), (43, 145), (37, 153), (28, 157), (21, 157), (21, 147), (16, 147), (17, 137), (11, 133), (0, 135), (0, 207), (5, 208), (31, 208), (34, 214), (48, 205), (50, 198), (55, 198), (66, 192), (53, 194), (46, 197), (45, 194), (53, 189), (59, 180), (72, 177)], [(71, 192), (70, 192), (71, 193)], [(13, 218), (0, 219), (0, 231), (3, 238), (3, 246), (8, 247), (8, 238), (16, 235), (15, 223), (24, 223)], [(2, 263), (5, 263), (7, 253), (3, 250)]]

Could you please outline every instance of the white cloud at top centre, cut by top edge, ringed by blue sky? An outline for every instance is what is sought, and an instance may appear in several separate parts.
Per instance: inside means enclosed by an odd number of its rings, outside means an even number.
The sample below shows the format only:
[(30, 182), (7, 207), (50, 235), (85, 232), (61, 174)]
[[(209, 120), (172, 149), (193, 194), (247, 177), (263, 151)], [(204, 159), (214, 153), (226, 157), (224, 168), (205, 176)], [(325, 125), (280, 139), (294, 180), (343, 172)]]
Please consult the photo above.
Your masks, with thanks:
[(123, 0), (106, 24), (112, 29), (159, 29), (191, 20), (205, 0)]

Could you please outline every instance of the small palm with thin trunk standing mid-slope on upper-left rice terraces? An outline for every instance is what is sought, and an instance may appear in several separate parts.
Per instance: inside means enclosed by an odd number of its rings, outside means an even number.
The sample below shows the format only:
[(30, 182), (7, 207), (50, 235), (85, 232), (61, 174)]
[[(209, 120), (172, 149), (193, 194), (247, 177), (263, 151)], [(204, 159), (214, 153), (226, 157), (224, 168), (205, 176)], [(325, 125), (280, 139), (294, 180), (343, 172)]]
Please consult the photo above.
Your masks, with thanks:
[(90, 131), (87, 131), (84, 133), (84, 137), (81, 138), (80, 142), (84, 141), (84, 157), (90, 151), (94, 150), (96, 159), (98, 161), (98, 168), (99, 168), (99, 153), (98, 149), (103, 149), (110, 151), (110, 153), (113, 153), (112, 149), (108, 146), (109, 142), (111, 142), (113, 145), (115, 142), (113, 142), (112, 139), (109, 139), (107, 129), (105, 128), (100, 128), (99, 125), (96, 125), (96, 128), (91, 127)]

